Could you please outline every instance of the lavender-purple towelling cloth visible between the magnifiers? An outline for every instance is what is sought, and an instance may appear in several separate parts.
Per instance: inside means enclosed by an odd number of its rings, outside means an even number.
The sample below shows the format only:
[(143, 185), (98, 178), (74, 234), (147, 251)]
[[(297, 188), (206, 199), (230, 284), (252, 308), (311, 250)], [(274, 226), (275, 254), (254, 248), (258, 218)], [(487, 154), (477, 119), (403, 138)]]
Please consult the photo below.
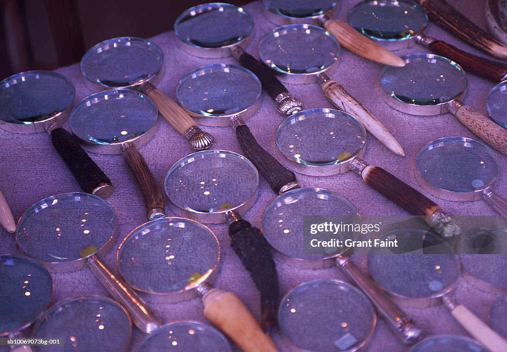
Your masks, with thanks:
[[(344, 0), (340, 3), (341, 8), (337, 18), (346, 20), (348, 10), (357, 1)], [(484, 1), (449, 0), (449, 3), (458, 7), (463, 14), (471, 18), (479, 26), (486, 28)], [(267, 32), (275, 28), (276, 25), (264, 17), (261, 2), (250, 3), (245, 9), (255, 19), (253, 38), (246, 51), (258, 57), (257, 45), (259, 41)], [(173, 100), (176, 100), (175, 88), (179, 79), (191, 70), (212, 63), (237, 64), (233, 58), (205, 59), (191, 56), (178, 46), (171, 24), (167, 24), (167, 30), (167, 32), (156, 35), (150, 38), (150, 40), (160, 46), (165, 58), (164, 76), (157, 84), (157, 87)], [(467, 50), (470, 53), (486, 56), (486, 54), (479, 53), (476, 49), (457, 40), (433, 23), (428, 25), (426, 34)], [(124, 35), (129, 35), (129, 33), (124, 33)], [(415, 46), (411, 49), (396, 51), (396, 54), (406, 55), (416, 52), (427, 53), (428, 51), (421, 46)], [(384, 93), (381, 92), (379, 76), (383, 66), (360, 58), (344, 48), (342, 48), (340, 55), (339, 67), (330, 74), (331, 79), (343, 85), (352, 95), (369, 108), (396, 139), (400, 141), (406, 153), (405, 157), (395, 155), (369, 135), (364, 159), (372, 165), (381, 166), (394, 175), (399, 176), (409, 185), (428, 195), (429, 198), (436, 201), (450, 213), (456, 215), (496, 215), (482, 201), (458, 203), (438, 199), (424, 191), (417, 183), (414, 175), (415, 155), (419, 148), (430, 140), (448, 136), (462, 136), (474, 139), (478, 139), (478, 137), (461, 125), (450, 113), (437, 116), (418, 116), (394, 110), (387, 105)], [(62, 67), (57, 72), (68, 77), (75, 85), (76, 98), (74, 104), (98, 91), (98, 88), (91, 88), (92, 85), (87, 84), (81, 74), (79, 63)], [(487, 114), (484, 101), (494, 85), (494, 82), (469, 74), (468, 89), (463, 99), (464, 102), (476, 108), (479, 112)], [(292, 95), (299, 97), (304, 102), (307, 109), (333, 107), (325, 99), (317, 84), (286, 84), (286, 87)], [(274, 142), (274, 135), (277, 126), (283, 119), (276, 111), (275, 102), (266, 93), (262, 94), (261, 99), (262, 104), (260, 109), (246, 123), (258, 142), (273, 154), (275, 158), (281, 160), (282, 157)], [(68, 129), (68, 124), (65, 124), (64, 127)], [(231, 128), (205, 126), (202, 126), (202, 128), (215, 137), (214, 148), (241, 153), (241, 149), (236, 141), (235, 132)], [(2, 170), (0, 172), (0, 189), (2, 189), (5, 198), (10, 204), (16, 219), (19, 219), (31, 205), (50, 195), (80, 191), (78, 183), (66, 169), (45, 133), (30, 135), (14, 134), (0, 129), (0, 141), (2, 143), (0, 151), (0, 170)], [(162, 116), (159, 116), (158, 131), (155, 136), (139, 149), (151, 167), (155, 179), (162, 190), (164, 178), (169, 168), (174, 162), (192, 152), (187, 140), (179, 135)], [(115, 246), (103, 256), (103, 260), (115, 273), (118, 273), (118, 265), (116, 263), (118, 245), (132, 229), (147, 221), (146, 211), (144, 210), (142, 198), (135, 188), (121, 155), (102, 155), (92, 152), (89, 152), (89, 155), (110, 177), (115, 187), (113, 195), (107, 199), (107, 202), (113, 207), (118, 216), (118, 234)], [(497, 153), (497, 155), (502, 170), (505, 172), (507, 170), (507, 157), (500, 153)], [(324, 177), (297, 174), (297, 179), (301, 187), (327, 188), (342, 194), (357, 207), (359, 213), (364, 215), (408, 215), (404, 210), (398, 208), (375, 190), (368, 187), (360, 177), (352, 172)], [(238, 188), (244, 186), (241, 183), (237, 184)], [(495, 189), (497, 193), (507, 195), (505, 176), (500, 175)], [(273, 193), (268, 183), (261, 178), (258, 199), (251, 209), (244, 214), (244, 218), (248, 219), (253, 226), (261, 227), (262, 213), (275, 197), (276, 194)], [(166, 214), (168, 216), (177, 216), (171, 212), (169, 200), (167, 200), (165, 194), (164, 199)], [(253, 314), (257, 318), (260, 318), (258, 291), (250, 279), (248, 272), (243, 268), (240, 260), (229, 246), (228, 226), (226, 224), (218, 224), (210, 225), (209, 227), (216, 234), (222, 246), (221, 264), (215, 286), (222, 290), (234, 291), (246, 303)], [(0, 253), (18, 253), (14, 236), (3, 228), (0, 231)], [(201, 245), (198, 242), (192, 244), (188, 248), (189, 253), (195, 250), (194, 246)], [(195, 252), (197, 251), (195, 250)], [(366, 267), (366, 260), (363, 257), (353, 257), (353, 260), (358, 265)], [(309, 280), (339, 279), (348, 281), (344, 273), (338, 268), (306, 270), (298, 269), (279, 261), (276, 261), (276, 266), (283, 295), (297, 285)], [(490, 269), (495, 270), (495, 268)], [(53, 273), (52, 275), (55, 288), (51, 305), (63, 299), (79, 295), (108, 296), (89, 269)], [(499, 294), (488, 293), (485, 290), (481, 290), (478, 286), (469, 284), (462, 277), (459, 279), (456, 292), (454, 293), (454, 298), (457, 301), (466, 305), (486, 322), (489, 320), (491, 304), (499, 296)], [(149, 297), (147, 297), (147, 301), (150, 303)], [(318, 304), (318, 302), (316, 301), (315, 304)], [(164, 324), (177, 320), (207, 322), (202, 314), (202, 302), (198, 298), (180, 303), (151, 302), (151, 306), (161, 317)], [(451, 317), (448, 309), (443, 304), (428, 308), (410, 308), (406, 306), (403, 308), (425, 330), (428, 336), (434, 334), (468, 336)], [(79, 317), (75, 318), (80, 319)], [(31, 331), (27, 332), (27, 335), (30, 333)], [(272, 332), (272, 337), (281, 351), (290, 350), (283, 344), (276, 329)], [(134, 328), (132, 351), (137, 348), (143, 338), (144, 335)], [(370, 342), (368, 351), (404, 352), (410, 349), (410, 346), (402, 344), (391, 333), (391, 330), (382, 319), (378, 319), (377, 327)], [(3, 351), (4, 348), (6, 347), (0, 347), (0, 350)], [(234, 348), (235, 350), (239, 350), (236, 346)]]

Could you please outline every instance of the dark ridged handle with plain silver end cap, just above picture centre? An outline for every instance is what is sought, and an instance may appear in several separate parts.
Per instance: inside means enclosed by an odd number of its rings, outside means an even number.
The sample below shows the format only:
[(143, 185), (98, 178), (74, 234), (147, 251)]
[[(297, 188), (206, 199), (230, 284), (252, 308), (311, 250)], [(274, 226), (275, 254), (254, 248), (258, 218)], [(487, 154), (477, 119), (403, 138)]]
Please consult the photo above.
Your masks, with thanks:
[(236, 137), (245, 157), (257, 167), (259, 173), (264, 176), (276, 194), (280, 194), (280, 189), (283, 186), (297, 182), (294, 172), (287, 170), (270, 153), (264, 150), (253, 137), (248, 126), (238, 126), (236, 128)]

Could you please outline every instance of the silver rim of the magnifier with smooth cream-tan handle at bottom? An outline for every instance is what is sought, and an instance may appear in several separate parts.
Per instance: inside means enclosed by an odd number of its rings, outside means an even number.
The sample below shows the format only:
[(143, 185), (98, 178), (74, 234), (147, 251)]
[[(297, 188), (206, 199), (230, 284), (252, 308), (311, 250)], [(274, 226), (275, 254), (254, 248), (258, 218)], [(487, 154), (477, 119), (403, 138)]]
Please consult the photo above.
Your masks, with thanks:
[[(212, 236), (213, 239), (216, 241), (216, 246), (218, 248), (218, 252), (216, 253), (216, 260), (213, 265), (213, 267), (209, 268), (205, 273), (199, 277), (198, 280), (194, 281), (193, 283), (188, 284), (183, 290), (175, 290), (175, 291), (169, 291), (169, 292), (153, 292), (149, 291), (143, 288), (140, 288), (133, 284), (128, 278), (125, 277), (123, 272), (121, 271), (120, 266), (120, 260), (121, 260), (121, 252), (123, 248), (125, 247), (126, 243), (128, 243), (132, 239), (136, 239), (141, 236), (149, 236), (147, 233), (143, 233), (143, 230), (151, 227), (156, 226), (159, 223), (171, 223), (171, 222), (179, 222), (179, 223), (186, 223), (191, 224), (192, 226), (199, 227), (202, 229), (202, 231), (208, 233), (208, 236)], [(197, 244), (198, 245), (198, 244)], [(118, 263), (120, 275), (122, 276), (125, 283), (127, 283), (128, 286), (136, 290), (137, 292), (142, 294), (142, 297), (146, 298), (149, 301), (157, 302), (157, 303), (178, 303), (182, 301), (187, 301), (195, 297), (201, 297), (202, 295), (197, 291), (197, 287), (204, 281), (208, 283), (213, 283), (216, 276), (218, 275), (218, 268), (220, 265), (220, 258), (222, 256), (222, 249), (220, 247), (220, 242), (218, 238), (215, 236), (213, 231), (211, 231), (207, 226), (191, 220), (187, 218), (179, 218), (179, 217), (163, 217), (158, 218), (155, 220), (151, 220), (148, 222), (143, 223), (142, 225), (137, 226), (134, 228), (125, 238), (122, 240), (120, 246), (118, 247), (118, 251), (116, 253), (116, 260)], [(162, 278), (163, 279), (163, 278)]]

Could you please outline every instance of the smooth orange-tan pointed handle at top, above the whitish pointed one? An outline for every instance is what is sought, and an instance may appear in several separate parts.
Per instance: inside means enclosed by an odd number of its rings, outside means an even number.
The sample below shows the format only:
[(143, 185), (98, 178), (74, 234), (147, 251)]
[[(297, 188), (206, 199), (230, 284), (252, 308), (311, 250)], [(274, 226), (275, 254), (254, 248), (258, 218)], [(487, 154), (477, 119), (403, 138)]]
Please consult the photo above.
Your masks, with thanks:
[(391, 53), (370, 38), (359, 33), (345, 21), (328, 20), (324, 23), (324, 27), (333, 33), (341, 46), (359, 56), (385, 65), (396, 67), (405, 66), (405, 61), (403, 61), (401, 57)]

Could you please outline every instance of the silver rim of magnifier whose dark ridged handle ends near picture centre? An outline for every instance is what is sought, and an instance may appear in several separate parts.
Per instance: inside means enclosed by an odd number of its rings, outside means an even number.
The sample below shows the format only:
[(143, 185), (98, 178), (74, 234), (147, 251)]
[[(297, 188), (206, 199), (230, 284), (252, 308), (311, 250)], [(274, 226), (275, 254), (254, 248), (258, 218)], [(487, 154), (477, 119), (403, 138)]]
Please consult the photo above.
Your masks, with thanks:
[[(259, 92), (257, 94), (256, 101), (244, 109), (229, 112), (229, 113), (224, 113), (224, 114), (215, 114), (212, 112), (207, 113), (207, 114), (200, 114), (195, 111), (191, 111), (191, 110), (187, 109), (187, 107), (182, 102), (181, 94), (178, 93), (179, 90), (184, 85), (186, 85), (189, 81), (191, 82), (193, 77), (203, 75), (203, 74), (211, 74), (216, 71), (227, 72), (229, 74), (235, 74), (234, 72), (242, 72), (244, 74), (247, 74), (248, 77), (252, 81), (255, 81), (258, 85)], [(210, 87), (210, 88), (211, 89), (218, 89), (218, 88), (224, 89), (225, 87), (215, 86), (215, 87)], [(204, 125), (204, 126), (227, 127), (227, 126), (231, 125), (231, 118), (233, 118), (235, 116), (240, 116), (243, 121), (247, 120), (250, 116), (255, 114), (257, 112), (257, 110), (259, 109), (259, 107), (261, 106), (261, 93), (262, 93), (261, 81), (259, 81), (258, 77), (255, 74), (253, 74), (252, 71), (250, 71), (244, 67), (241, 67), (241, 66), (229, 65), (229, 64), (212, 64), (212, 65), (205, 65), (205, 66), (198, 67), (198, 68), (190, 71), (186, 75), (184, 75), (182, 77), (182, 79), (179, 80), (178, 85), (176, 86), (176, 97), (178, 99), (178, 104), (180, 106), (182, 106), (183, 109), (199, 123), (199, 125)]]

